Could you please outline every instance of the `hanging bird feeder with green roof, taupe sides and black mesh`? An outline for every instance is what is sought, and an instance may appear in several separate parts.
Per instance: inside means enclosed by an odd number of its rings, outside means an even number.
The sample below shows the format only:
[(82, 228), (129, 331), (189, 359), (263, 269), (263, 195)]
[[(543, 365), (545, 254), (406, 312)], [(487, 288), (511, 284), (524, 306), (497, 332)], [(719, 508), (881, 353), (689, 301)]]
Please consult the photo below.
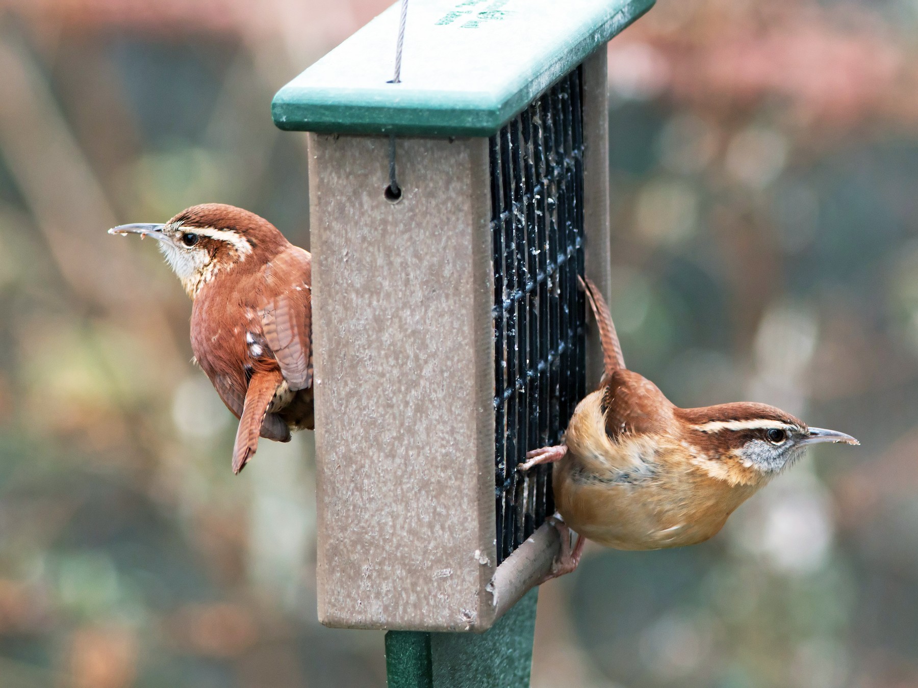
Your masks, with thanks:
[(605, 44), (653, 2), (419, 0), (398, 83), (393, 6), (274, 97), (310, 132), (323, 624), (482, 632), (548, 571), (517, 465), (599, 382)]

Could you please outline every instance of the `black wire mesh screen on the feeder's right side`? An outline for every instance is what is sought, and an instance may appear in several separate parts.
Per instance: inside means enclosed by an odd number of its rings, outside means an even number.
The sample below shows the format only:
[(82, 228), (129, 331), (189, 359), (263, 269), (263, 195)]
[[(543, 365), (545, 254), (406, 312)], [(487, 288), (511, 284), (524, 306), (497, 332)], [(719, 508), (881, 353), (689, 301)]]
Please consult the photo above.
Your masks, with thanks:
[(581, 68), (490, 139), (498, 563), (554, 514), (551, 466), (587, 394)]

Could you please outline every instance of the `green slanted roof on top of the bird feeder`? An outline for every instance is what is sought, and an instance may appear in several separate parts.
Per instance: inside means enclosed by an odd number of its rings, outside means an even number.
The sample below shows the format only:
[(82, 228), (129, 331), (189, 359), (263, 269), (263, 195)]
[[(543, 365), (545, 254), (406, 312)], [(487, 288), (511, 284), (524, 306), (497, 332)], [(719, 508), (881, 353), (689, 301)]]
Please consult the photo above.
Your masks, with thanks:
[(398, 4), (287, 83), (282, 129), (490, 136), (655, 0), (412, 0), (393, 76)]

